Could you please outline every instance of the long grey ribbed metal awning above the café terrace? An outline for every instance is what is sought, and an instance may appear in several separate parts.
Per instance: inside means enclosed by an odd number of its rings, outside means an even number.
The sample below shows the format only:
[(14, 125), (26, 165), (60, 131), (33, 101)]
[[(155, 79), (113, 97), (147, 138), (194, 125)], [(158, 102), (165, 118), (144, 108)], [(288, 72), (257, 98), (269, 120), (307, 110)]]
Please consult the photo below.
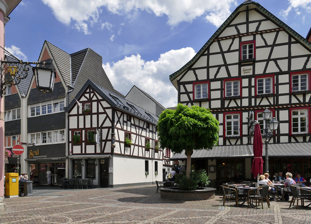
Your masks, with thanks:
[[(269, 144), (269, 157), (311, 157), (311, 143), (281, 143)], [(211, 159), (211, 158), (252, 158), (253, 145), (226, 145), (216, 146), (214, 149), (194, 151), (192, 159)], [(262, 156), (265, 156), (263, 145)], [(185, 160), (185, 151), (175, 154), (170, 160)]]

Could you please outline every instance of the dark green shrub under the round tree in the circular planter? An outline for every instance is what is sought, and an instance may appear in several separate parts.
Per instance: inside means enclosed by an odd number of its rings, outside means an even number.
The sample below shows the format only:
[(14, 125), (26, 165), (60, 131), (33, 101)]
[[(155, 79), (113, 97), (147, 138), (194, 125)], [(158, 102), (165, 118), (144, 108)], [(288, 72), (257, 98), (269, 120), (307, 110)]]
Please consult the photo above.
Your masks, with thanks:
[(197, 188), (207, 187), (210, 181), (205, 170), (191, 171), (190, 178), (186, 172), (175, 174), (175, 183), (180, 190), (196, 190)]

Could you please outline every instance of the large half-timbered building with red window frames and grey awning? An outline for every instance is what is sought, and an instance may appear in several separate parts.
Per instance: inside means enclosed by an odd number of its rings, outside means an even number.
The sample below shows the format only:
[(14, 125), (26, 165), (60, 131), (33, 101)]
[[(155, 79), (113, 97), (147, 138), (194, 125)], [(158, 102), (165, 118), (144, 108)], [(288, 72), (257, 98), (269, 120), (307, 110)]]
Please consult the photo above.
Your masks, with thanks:
[[(248, 112), (263, 130), (265, 107), (280, 121), (269, 139), (270, 173), (311, 177), (310, 57), (307, 39), (259, 3), (245, 1), (191, 61), (169, 76), (179, 103), (209, 108), (220, 122), (218, 146), (192, 155), (195, 167), (209, 170), (212, 185), (236, 172), (252, 178)], [(183, 164), (186, 156), (172, 160)]]

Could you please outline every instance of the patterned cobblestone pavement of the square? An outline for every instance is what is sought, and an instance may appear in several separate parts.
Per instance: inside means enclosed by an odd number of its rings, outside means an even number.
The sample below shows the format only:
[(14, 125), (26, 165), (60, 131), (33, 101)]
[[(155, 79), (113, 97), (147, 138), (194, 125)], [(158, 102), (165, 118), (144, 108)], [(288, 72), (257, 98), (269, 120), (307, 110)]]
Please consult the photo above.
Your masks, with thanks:
[(222, 206), (222, 196), (205, 201), (160, 198), (155, 185), (88, 190), (34, 190), (32, 197), (5, 199), (0, 223), (309, 223), (311, 208), (289, 208), (288, 201), (264, 203), (264, 209)]

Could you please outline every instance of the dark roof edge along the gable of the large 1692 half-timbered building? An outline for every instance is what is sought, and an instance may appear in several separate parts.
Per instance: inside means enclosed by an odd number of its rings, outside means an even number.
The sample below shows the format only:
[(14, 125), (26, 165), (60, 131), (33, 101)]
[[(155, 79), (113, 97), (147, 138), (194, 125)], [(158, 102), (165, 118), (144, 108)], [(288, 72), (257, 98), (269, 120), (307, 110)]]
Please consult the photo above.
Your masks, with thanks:
[(207, 50), (209, 45), (213, 42), (213, 39), (215, 39), (225, 28), (226, 25), (228, 25), (231, 20), (234, 18), (234, 16), (239, 12), (239, 9), (246, 5), (254, 5), (256, 8), (261, 11), (263, 14), (265, 14), (268, 18), (270, 18), (272, 21), (277, 23), (280, 27), (284, 28), (287, 32), (289, 32), (293, 37), (298, 40), (300, 43), (304, 44), (307, 48), (311, 50), (311, 43), (306, 40), (304, 37), (302, 37), (300, 34), (295, 32), (295, 30), (291, 29), (288, 25), (286, 25), (283, 21), (278, 19), (276, 16), (274, 16), (271, 12), (269, 12), (267, 9), (262, 7), (259, 3), (253, 2), (250, 0), (247, 0), (243, 2), (241, 5), (239, 5), (232, 13), (231, 15), (226, 19), (226, 21), (216, 30), (216, 32), (211, 36), (211, 38), (204, 44), (204, 46), (197, 52), (197, 54), (187, 63), (185, 64), (181, 69), (174, 72), (173, 74), (169, 75), (169, 79), (172, 81), (175, 79), (179, 74), (181, 74), (183, 71), (185, 71), (188, 67), (190, 67), (194, 62), (197, 61), (197, 59), (201, 56), (203, 52)]

